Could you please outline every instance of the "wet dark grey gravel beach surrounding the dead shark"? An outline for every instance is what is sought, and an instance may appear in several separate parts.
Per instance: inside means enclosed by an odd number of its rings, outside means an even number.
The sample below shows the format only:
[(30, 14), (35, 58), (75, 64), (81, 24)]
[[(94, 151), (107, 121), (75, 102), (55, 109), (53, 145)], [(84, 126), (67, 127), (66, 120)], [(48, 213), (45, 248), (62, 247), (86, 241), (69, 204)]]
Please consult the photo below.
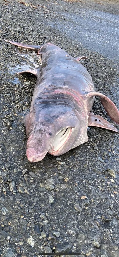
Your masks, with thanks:
[[(1, 1), (2, 39), (37, 45), (52, 42), (74, 57), (88, 56), (89, 60), (81, 62), (96, 90), (118, 106), (117, 1), (23, 1)], [(76, 23), (74, 16), (83, 21)], [(106, 36), (102, 43), (97, 19)], [(89, 26), (92, 35), (97, 35), (90, 40), (85, 33)], [(29, 163), (22, 121), (36, 78), (18, 78), (16, 71), (39, 61), (34, 52), (1, 42), (1, 256), (41, 257), (42, 253), (70, 251), (79, 256), (117, 257), (118, 134), (90, 127), (88, 143), (60, 157), (47, 154), (44, 160)], [(93, 111), (112, 122), (98, 98)]]

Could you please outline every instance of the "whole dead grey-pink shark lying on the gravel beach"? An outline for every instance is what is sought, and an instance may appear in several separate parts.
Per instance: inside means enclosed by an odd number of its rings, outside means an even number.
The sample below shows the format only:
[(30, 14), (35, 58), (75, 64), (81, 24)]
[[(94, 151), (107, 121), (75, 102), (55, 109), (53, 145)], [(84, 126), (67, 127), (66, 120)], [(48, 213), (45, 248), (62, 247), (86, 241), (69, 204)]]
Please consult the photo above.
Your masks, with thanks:
[(73, 58), (51, 43), (38, 46), (6, 41), (36, 51), (42, 60), (39, 67), (19, 73), (30, 72), (37, 77), (30, 112), (25, 118), (30, 162), (42, 160), (47, 152), (61, 155), (87, 142), (88, 126), (118, 132), (103, 117), (90, 112), (98, 96), (107, 114), (119, 124), (115, 104), (95, 91), (90, 74), (79, 62), (86, 57)]

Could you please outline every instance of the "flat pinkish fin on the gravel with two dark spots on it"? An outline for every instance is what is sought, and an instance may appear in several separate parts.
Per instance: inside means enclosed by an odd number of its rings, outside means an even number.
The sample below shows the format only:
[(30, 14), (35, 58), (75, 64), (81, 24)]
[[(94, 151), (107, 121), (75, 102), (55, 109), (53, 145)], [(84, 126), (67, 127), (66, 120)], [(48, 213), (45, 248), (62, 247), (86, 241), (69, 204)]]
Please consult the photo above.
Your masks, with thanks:
[[(103, 117), (100, 115), (95, 115), (94, 113), (90, 112), (89, 118), (88, 118), (88, 126), (95, 126), (95, 127), (101, 127), (106, 128), (115, 132), (118, 132), (118, 130), (108, 121), (106, 121)], [(119, 133), (119, 132), (118, 132)]]

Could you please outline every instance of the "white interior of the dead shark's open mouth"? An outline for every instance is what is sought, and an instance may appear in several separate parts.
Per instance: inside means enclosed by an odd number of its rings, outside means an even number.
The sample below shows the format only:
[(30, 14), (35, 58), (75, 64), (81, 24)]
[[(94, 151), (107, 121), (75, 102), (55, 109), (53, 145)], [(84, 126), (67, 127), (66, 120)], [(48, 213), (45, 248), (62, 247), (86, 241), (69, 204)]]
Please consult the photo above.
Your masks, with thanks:
[(63, 128), (63, 130), (61, 130), (55, 136), (54, 142), (48, 152), (52, 153), (52, 152), (56, 152), (56, 151), (60, 150), (61, 146), (66, 142), (66, 140), (70, 134), (70, 131), (71, 131), (70, 127)]

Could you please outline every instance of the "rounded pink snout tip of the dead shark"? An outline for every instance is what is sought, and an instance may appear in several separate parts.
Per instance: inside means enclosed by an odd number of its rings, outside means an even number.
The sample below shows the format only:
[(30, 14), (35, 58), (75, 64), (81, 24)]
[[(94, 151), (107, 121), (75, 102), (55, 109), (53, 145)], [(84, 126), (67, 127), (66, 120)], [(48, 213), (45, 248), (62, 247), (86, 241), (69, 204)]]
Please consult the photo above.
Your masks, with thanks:
[(38, 162), (44, 159), (45, 153), (39, 154), (34, 148), (27, 149), (27, 158), (30, 162)]

